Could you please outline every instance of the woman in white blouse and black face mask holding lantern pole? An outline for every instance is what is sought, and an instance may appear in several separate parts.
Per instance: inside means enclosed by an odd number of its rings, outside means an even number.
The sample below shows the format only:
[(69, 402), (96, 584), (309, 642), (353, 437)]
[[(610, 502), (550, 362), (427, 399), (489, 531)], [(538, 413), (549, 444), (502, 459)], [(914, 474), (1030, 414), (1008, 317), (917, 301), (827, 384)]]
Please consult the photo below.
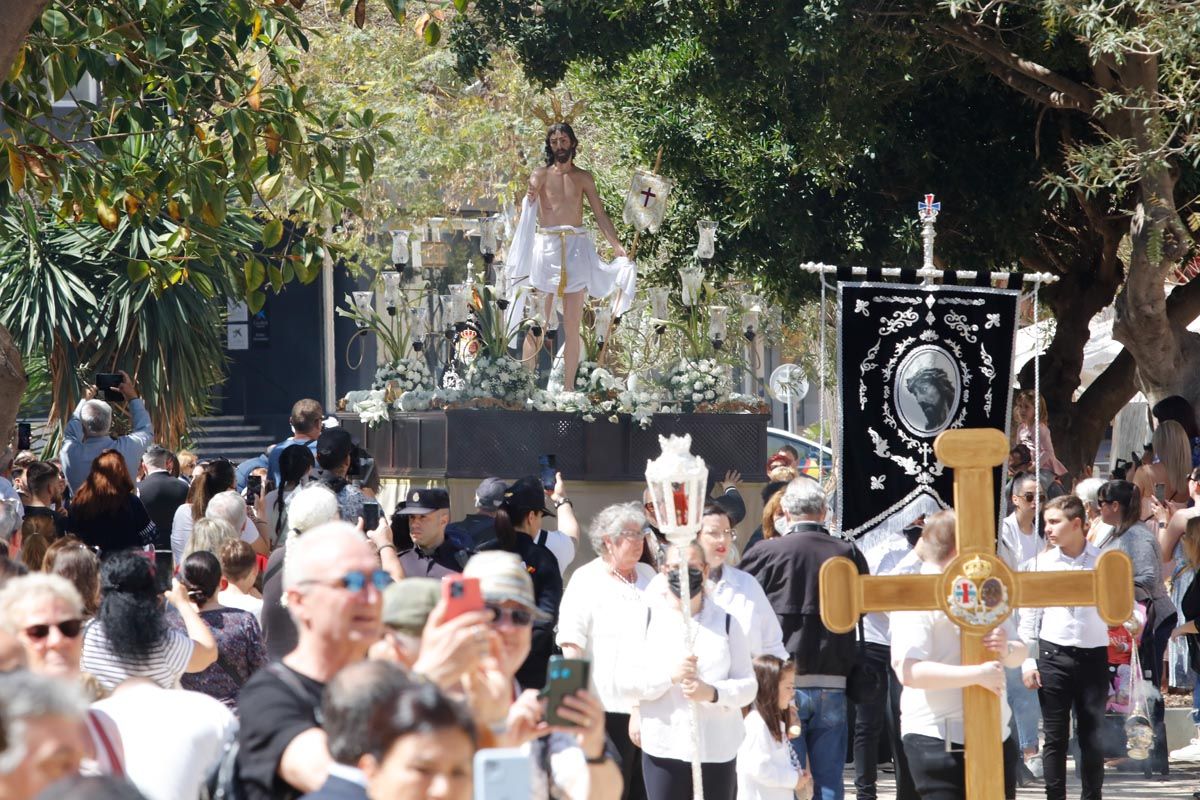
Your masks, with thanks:
[[(647, 589), (644, 639), (637, 655), (619, 666), (618, 684), (640, 704), (646, 796), (692, 796), (696, 742), (689, 703), (696, 702), (704, 796), (731, 798), (737, 790), (742, 708), (750, 704), (757, 687), (750, 645), (742, 626), (709, 596), (704, 551), (694, 543), (683, 555), (689, 585), (680, 584), (680, 553), (672, 548), (666, 558), (668, 581), (658, 591)], [(683, 594), (690, 596), (690, 628), (680, 613)]]

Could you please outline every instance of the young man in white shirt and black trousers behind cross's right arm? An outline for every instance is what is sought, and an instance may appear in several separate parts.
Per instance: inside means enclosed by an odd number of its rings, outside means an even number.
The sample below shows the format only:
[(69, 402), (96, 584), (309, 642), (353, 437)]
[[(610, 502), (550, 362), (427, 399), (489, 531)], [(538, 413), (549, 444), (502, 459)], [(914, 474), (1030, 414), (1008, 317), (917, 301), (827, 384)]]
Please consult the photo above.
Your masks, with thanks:
[[(1055, 498), (1043, 511), (1046, 537), (1054, 546), (1026, 563), (1025, 572), (1092, 570), (1100, 552), (1087, 541), (1084, 503), (1074, 495)], [(1136, 615), (1135, 610), (1135, 615)], [(1130, 622), (1126, 622), (1130, 626)], [(1132, 627), (1140, 630), (1141, 621)], [(1045, 732), (1043, 764), (1046, 800), (1067, 798), (1067, 742), (1075, 712), (1079, 736), (1080, 800), (1100, 800), (1104, 787), (1102, 729), (1109, 693), (1109, 626), (1093, 606), (1027, 608), (1021, 614), (1021, 638), (1038, 639), (1034, 662), (1022, 667), (1025, 685), (1038, 690)]]

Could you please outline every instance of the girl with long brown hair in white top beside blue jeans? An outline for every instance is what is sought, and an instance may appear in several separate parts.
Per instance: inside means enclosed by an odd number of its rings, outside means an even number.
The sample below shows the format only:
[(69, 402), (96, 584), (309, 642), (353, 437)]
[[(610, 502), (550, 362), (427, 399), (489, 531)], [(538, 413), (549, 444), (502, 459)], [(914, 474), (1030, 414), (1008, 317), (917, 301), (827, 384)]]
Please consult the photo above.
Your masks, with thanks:
[(791, 739), (800, 734), (790, 726), (796, 698), (792, 662), (762, 655), (754, 660), (758, 680), (745, 738), (738, 748), (738, 800), (798, 800), (812, 796), (812, 778), (800, 768)]

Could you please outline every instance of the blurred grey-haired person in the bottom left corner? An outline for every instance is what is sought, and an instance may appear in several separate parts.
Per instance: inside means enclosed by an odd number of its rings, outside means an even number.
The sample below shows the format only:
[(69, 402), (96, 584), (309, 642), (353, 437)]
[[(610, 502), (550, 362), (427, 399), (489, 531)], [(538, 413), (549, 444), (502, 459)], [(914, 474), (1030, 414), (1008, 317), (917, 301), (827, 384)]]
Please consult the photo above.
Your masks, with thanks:
[(0, 798), (32, 800), (79, 772), (86, 708), (83, 692), (67, 681), (29, 672), (0, 675)]

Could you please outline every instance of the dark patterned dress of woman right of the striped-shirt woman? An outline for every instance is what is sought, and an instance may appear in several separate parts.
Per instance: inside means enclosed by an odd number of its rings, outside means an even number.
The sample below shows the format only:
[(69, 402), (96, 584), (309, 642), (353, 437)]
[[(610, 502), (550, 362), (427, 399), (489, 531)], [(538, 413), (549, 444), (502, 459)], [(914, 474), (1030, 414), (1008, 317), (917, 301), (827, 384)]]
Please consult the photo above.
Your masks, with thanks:
[[(236, 711), (241, 687), (266, 663), (263, 630), (253, 614), (240, 608), (222, 606), (200, 612), (200, 618), (212, 631), (220, 656), (203, 672), (185, 674), (180, 686), (216, 698)], [(169, 613), (167, 622), (175, 630), (187, 630), (178, 613)]]

